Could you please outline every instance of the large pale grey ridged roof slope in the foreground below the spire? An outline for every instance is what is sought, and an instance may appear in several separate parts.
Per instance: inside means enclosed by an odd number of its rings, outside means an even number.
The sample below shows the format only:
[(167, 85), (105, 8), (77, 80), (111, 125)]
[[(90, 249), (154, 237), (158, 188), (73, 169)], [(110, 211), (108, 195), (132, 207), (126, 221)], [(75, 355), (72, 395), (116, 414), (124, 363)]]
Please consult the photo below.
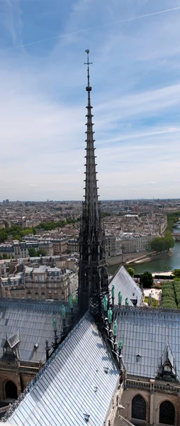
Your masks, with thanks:
[(118, 383), (116, 364), (86, 313), (30, 383), (23, 400), (11, 408), (8, 421), (15, 426), (82, 426), (89, 415), (89, 424), (103, 426)]

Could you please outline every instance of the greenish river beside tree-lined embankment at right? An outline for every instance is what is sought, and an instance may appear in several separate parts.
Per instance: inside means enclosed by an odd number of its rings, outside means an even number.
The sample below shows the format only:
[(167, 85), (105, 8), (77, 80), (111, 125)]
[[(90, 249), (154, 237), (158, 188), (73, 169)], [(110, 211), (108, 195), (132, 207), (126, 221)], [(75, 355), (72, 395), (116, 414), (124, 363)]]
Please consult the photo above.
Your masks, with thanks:
[[(179, 226), (176, 226), (173, 230), (174, 232), (180, 232), (180, 223)], [(132, 263), (128, 266), (132, 266), (135, 270), (135, 273), (143, 273), (145, 271), (150, 272), (163, 272), (163, 271), (173, 271), (174, 269), (180, 269), (180, 241), (175, 241), (173, 247), (173, 256), (157, 259), (145, 263)], [(116, 269), (119, 265), (110, 266), (108, 272), (113, 274), (116, 272)]]

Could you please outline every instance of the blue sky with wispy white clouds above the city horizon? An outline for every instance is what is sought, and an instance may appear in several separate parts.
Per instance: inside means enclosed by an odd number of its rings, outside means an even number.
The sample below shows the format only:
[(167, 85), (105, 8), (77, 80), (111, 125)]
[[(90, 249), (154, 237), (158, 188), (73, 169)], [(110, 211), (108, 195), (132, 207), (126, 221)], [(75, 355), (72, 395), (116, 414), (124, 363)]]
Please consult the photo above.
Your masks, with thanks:
[(180, 197), (180, 0), (0, 0), (0, 21), (1, 200), (82, 199), (87, 47), (101, 200)]

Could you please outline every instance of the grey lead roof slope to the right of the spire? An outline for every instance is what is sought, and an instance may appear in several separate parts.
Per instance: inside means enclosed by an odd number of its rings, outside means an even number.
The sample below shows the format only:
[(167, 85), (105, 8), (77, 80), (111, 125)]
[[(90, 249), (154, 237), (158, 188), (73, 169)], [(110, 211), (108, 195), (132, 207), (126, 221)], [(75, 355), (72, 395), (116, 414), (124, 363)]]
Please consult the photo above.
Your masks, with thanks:
[[(115, 310), (118, 339), (123, 341), (123, 361), (132, 376), (155, 378), (169, 346), (169, 361), (180, 376), (180, 312), (142, 307)], [(171, 349), (170, 349), (171, 348)]]

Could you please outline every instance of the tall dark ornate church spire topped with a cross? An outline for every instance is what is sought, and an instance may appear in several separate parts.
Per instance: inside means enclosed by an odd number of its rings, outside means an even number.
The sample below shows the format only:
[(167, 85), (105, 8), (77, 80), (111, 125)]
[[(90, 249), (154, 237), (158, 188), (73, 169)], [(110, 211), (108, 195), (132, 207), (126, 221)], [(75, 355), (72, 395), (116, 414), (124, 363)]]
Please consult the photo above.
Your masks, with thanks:
[(89, 50), (87, 53), (88, 93), (86, 130), (86, 179), (85, 199), (82, 205), (79, 232), (79, 310), (91, 309), (97, 315), (101, 309), (101, 298), (108, 294), (108, 274), (105, 260), (105, 233), (101, 222), (101, 207), (98, 200), (96, 164), (94, 155), (94, 131), (91, 114), (91, 86), (89, 83)]

